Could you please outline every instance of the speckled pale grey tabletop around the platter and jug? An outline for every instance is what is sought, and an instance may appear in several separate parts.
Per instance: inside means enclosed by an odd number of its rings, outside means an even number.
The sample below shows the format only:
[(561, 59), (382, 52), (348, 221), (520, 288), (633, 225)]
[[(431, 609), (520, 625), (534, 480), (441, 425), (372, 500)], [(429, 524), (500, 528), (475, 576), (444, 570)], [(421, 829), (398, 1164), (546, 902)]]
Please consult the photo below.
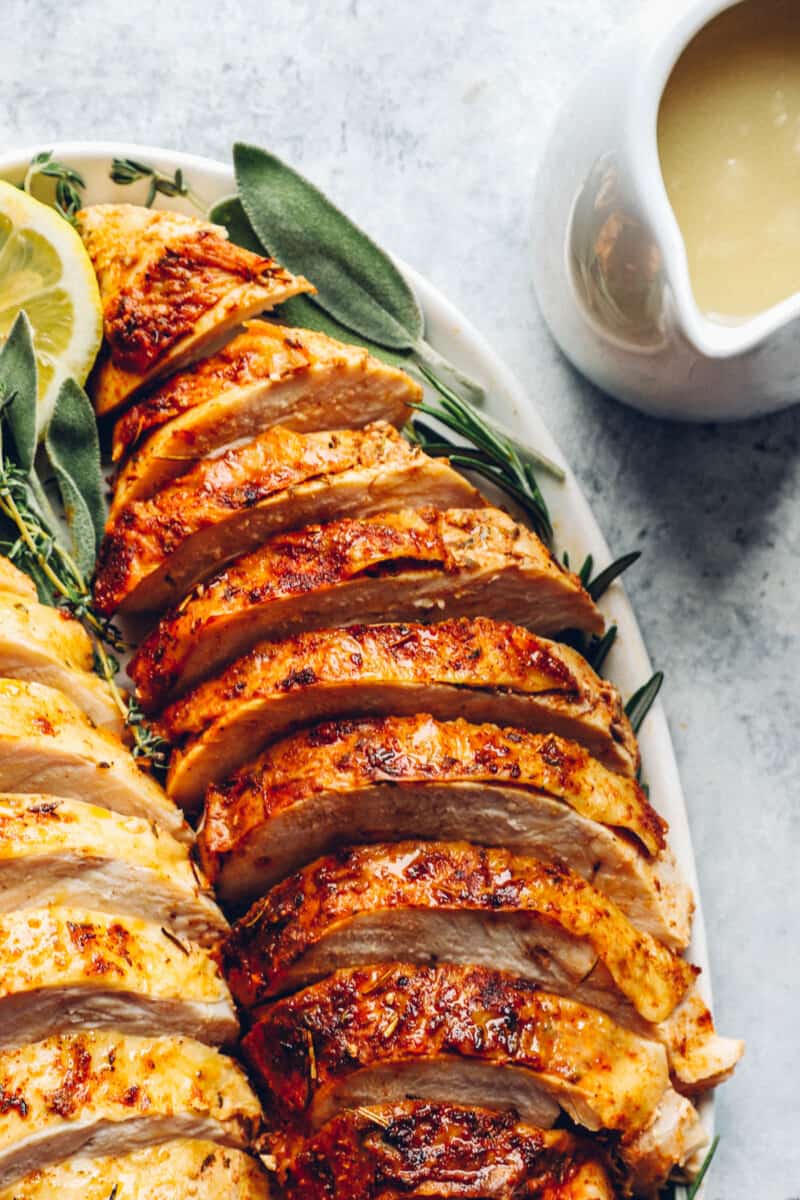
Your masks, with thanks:
[[(636, 0), (634, 0), (636, 4)], [(800, 409), (640, 418), (563, 361), (530, 289), (551, 115), (631, 0), (4, 0), (0, 145), (269, 145), (423, 271), (529, 383), (630, 577), (690, 800), (718, 1025), (709, 1200), (800, 1195)]]

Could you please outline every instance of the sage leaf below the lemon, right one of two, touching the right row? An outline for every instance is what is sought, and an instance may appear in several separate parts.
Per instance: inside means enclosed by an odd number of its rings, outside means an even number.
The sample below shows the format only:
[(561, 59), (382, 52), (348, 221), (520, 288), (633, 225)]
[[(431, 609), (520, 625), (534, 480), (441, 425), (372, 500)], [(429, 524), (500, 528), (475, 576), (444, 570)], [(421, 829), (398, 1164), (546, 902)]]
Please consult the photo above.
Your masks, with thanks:
[(65, 379), (44, 436), (64, 502), (76, 563), (90, 576), (106, 526), (103, 476), (95, 413), (74, 379)]

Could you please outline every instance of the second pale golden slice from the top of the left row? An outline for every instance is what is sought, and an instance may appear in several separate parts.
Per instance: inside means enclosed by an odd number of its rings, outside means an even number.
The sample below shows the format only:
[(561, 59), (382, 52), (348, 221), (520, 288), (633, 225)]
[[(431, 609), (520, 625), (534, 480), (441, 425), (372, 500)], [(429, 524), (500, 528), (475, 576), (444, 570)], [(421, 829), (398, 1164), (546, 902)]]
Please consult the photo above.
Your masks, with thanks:
[(79, 622), (0, 586), (0, 676), (59, 688), (95, 725), (122, 736), (120, 710), (92, 662), (91, 638)]

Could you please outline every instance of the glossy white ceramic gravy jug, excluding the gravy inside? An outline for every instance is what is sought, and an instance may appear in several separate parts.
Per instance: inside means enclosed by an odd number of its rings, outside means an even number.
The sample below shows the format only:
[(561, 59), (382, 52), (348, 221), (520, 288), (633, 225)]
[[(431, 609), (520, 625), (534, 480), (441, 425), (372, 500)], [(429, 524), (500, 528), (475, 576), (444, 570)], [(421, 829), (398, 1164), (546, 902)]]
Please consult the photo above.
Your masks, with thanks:
[(736, 420), (800, 400), (800, 293), (727, 323), (697, 305), (658, 107), (687, 44), (735, 5), (678, 7), (644, 11), (559, 114), (537, 174), (534, 283), (557, 342), (603, 391), (655, 416)]

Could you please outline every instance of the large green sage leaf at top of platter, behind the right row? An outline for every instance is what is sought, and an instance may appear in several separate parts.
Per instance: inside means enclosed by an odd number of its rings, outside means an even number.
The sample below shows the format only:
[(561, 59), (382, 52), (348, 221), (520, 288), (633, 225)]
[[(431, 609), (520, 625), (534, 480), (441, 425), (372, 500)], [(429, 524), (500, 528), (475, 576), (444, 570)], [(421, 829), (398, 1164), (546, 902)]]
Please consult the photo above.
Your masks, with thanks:
[(236, 186), (259, 241), (307, 275), (317, 302), (348, 329), (390, 350), (410, 350), (422, 312), (391, 258), (319, 188), (276, 155), (237, 142)]

